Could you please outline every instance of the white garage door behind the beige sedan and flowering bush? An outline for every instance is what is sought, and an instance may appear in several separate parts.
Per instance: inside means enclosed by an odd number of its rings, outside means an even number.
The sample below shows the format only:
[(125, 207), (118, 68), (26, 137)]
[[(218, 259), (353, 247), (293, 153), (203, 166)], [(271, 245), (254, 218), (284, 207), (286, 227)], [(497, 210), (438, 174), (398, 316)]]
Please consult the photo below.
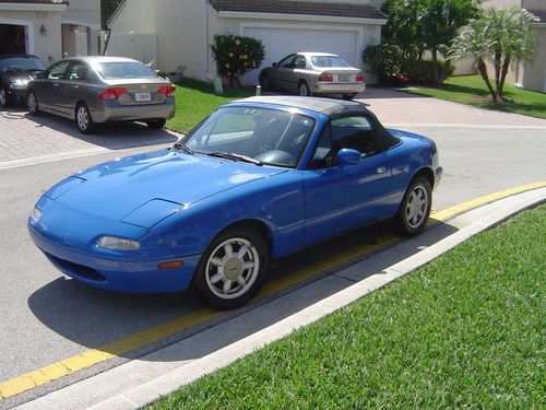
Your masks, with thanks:
[[(317, 28), (275, 28), (245, 27), (245, 36), (259, 38), (265, 47), (265, 58), (262, 67), (269, 67), (274, 61), (298, 51), (333, 52), (345, 61), (359, 67), (356, 31), (333, 31)], [(260, 70), (252, 70), (245, 75), (244, 83), (258, 83)]]

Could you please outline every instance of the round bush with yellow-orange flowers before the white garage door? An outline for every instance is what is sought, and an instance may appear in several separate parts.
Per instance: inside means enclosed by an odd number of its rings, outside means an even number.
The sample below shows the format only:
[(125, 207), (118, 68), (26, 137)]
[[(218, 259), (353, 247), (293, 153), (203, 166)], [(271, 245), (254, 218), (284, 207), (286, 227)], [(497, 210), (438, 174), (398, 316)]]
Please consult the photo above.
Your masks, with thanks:
[(252, 37), (216, 34), (211, 48), (218, 74), (232, 84), (235, 79), (240, 85), (238, 77), (260, 67), (265, 57), (263, 43)]

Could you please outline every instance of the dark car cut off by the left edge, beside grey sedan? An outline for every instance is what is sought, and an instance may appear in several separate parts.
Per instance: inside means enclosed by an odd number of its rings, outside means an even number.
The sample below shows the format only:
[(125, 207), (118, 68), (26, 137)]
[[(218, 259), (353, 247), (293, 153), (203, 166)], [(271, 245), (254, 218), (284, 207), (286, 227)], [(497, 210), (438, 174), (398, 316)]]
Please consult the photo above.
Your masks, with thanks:
[(8, 107), (26, 101), (26, 87), (46, 65), (36, 56), (0, 56), (0, 105)]

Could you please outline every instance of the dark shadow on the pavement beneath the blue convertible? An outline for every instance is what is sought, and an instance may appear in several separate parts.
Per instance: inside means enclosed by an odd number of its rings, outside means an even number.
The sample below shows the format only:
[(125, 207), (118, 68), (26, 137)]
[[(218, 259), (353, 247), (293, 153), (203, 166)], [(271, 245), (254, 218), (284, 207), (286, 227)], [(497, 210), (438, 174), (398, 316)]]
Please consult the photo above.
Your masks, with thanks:
[[(389, 229), (385, 229), (385, 223), (380, 223), (328, 241), (294, 256), (275, 260), (264, 288), (271, 286), (280, 289), (278, 291), (270, 292), (262, 297), (259, 294), (241, 308), (222, 313), (166, 340), (147, 344), (123, 356), (139, 358), (197, 333), (211, 332), (205, 343), (192, 343), (191, 349), (173, 353), (174, 355), (169, 356), (168, 361), (201, 358), (360, 280), (381, 274), (390, 266), (419, 253), (456, 231), (458, 229), (449, 223), (438, 223), (420, 236), (408, 239), (393, 235)], [(361, 256), (361, 251), (356, 253), (355, 247), (361, 248), (363, 246), (365, 249), (373, 250)], [(332, 258), (341, 259), (343, 262), (328, 268), (332, 266)], [(292, 276), (298, 277), (298, 272), (311, 266), (311, 269), (317, 270), (316, 274), (304, 276), (304, 279), (290, 284), (295, 282), (290, 281)], [(327, 268), (321, 270), (321, 267)], [(343, 272), (340, 272), (341, 269), (344, 269)], [(281, 285), (277, 285), (278, 283)], [(204, 308), (192, 290), (159, 295), (119, 294), (88, 288), (62, 278), (34, 292), (27, 303), (33, 314), (52, 331), (88, 349), (106, 351), (104, 345), (107, 343)], [(246, 313), (249, 315), (245, 315)], [(253, 319), (245, 320), (247, 316)], [(228, 331), (222, 330), (222, 326), (228, 321), (236, 321), (237, 325), (228, 326)], [(140, 359), (167, 360), (164, 356), (154, 359), (153, 354)]]

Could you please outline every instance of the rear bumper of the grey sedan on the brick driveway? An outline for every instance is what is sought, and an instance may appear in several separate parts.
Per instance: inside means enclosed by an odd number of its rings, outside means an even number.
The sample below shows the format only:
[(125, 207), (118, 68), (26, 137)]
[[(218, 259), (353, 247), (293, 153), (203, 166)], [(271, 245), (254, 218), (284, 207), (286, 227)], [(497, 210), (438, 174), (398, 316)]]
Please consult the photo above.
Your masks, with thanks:
[(98, 107), (90, 107), (94, 122), (139, 121), (175, 116), (175, 98), (169, 97), (162, 104), (120, 105), (106, 101)]

